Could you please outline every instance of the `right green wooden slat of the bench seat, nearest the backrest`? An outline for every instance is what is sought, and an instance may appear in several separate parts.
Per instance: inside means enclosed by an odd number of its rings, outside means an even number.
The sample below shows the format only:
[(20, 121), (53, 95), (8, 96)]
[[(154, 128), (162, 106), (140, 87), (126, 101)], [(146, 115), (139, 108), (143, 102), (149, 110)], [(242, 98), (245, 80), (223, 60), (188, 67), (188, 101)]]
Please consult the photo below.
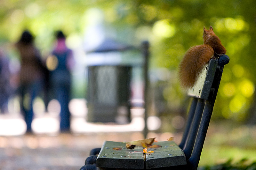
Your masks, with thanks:
[(146, 169), (187, 164), (184, 152), (173, 141), (156, 142), (154, 144), (162, 147), (148, 149), (148, 151), (154, 152), (146, 155)]

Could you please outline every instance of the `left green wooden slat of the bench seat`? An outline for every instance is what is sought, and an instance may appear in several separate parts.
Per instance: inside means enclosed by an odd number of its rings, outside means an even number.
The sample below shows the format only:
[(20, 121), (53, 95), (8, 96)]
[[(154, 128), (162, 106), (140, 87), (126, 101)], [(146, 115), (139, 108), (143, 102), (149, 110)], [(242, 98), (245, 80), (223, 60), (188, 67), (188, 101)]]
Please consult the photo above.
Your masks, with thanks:
[[(114, 150), (113, 148), (122, 148)], [(97, 167), (144, 169), (143, 148), (126, 149), (125, 143), (105, 141), (96, 160)]]

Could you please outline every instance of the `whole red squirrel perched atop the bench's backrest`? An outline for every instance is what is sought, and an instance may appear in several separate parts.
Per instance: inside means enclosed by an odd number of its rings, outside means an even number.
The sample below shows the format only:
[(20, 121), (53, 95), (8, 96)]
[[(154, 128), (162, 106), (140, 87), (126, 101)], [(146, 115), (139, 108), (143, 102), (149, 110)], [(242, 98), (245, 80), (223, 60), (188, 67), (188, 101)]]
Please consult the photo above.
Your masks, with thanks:
[(184, 89), (189, 89), (196, 84), (204, 65), (211, 58), (226, 54), (226, 49), (213, 32), (212, 26), (209, 30), (204, 28), (203, 39), (204, 44), (189, 48), (180, 63), (178, 74), (180, 85)]

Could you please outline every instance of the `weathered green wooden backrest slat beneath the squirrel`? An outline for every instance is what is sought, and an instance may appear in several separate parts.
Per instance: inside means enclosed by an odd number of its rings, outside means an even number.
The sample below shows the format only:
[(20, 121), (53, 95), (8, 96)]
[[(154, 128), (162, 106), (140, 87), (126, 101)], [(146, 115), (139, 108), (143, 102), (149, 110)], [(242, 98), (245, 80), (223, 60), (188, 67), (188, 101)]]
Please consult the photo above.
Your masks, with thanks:
[(217, 65), (218, 60), (212, 59), (209, 61), (196, 85), (188, 91), (188, 96), (208, 100)]

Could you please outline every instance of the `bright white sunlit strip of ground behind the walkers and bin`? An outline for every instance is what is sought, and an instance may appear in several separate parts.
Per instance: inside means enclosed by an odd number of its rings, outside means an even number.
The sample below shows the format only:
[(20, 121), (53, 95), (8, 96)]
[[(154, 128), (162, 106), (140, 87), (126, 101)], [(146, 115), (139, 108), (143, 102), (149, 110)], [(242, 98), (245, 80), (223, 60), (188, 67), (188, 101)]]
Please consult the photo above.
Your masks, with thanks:
[[(45, 112), (42, 100), (36, 100), (32, 130), (35, 134), (58, 134), (60, 131), (60, 104), (57, 100), (50, 101), (48, 112)], [(72, 99), (69, 103), (71, 114), (70, 131), (72, 133), (92, 132), (132, 132), (142, 131), (145, 127), (144, 109), (135, 107), (131, 109), (131, 122), (128, 124), (92, 123), (86, 121), (88, 113), (85, 99)], [(15, 115), (15, 117), (13, 117)], [(26, 123), (20, 113), (0, 115), (0, 135), (23, 135), (26, 132)], [(156, 116), (148, 117), (149, 130), (159, 129), (161, 120)]]

